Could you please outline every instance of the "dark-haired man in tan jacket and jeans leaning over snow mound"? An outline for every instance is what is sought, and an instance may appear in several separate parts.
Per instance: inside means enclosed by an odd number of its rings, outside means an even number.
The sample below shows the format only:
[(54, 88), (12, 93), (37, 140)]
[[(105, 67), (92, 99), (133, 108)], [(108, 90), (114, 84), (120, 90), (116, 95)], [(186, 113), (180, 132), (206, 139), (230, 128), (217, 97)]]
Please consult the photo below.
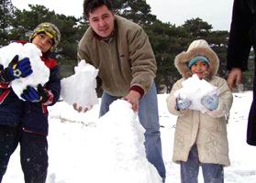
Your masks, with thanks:
[[(147, 158), (164, 181), (154, 84), (157, 66), (149, 38), (139, 25), (116, 16), (111, 0), (84, 0), (83, 16), (90, 27), (79, 43), (78, 58), (99, 69), (98, 77), (104, 91), (100, 116), (107, 113), (110, 103), (119, 98), (131, 103), (132, 109), (139, 112), (139, 123), (146, 129)], [(76, 105), (74, 108), (82, 111)]]

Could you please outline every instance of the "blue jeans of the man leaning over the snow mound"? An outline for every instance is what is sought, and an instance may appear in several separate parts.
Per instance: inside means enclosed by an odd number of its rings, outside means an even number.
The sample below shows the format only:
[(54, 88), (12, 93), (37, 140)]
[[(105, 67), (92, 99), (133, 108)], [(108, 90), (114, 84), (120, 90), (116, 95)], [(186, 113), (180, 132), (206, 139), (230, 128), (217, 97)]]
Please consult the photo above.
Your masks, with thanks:
[[(100, 106), (100, 116), (109, 110), (109, 105), (119, 97), (111, 96), (103, 92)], [(160, 174), (163, 182), (165, 180), (165, 167), (161, 155), (161, 135), (158, 115), (158, 102), (156, 86), (153, 83), (150, 91), (139, 100), (139, 123), (146, 130), (145, 148), (149, 162), (154, 165)]]

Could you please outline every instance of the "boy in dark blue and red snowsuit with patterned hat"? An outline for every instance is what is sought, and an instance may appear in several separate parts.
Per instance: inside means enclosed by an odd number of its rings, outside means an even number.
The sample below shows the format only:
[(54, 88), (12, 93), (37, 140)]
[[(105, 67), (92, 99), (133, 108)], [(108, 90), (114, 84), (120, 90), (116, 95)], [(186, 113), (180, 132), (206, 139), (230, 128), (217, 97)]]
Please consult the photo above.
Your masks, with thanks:
[[(61, 33), (51, 23), (42, 23), (30, 36), (30, 42), (42, 52), (41, 60), (50, 69), (50, 79), (44, 85), (28, 88), (18, 99), (10, 82), (32, 73), (28, 58), (16, 56), (6, 69), (0, 72), (0, 182), (6, 173), (10, 156), (20, 145), (20, 162), (26, 183), (44, 183), (48, 168), (48, 111), (60, 96), (60, 79), (55, 59), (49, 53), (60, 42)], [(26, 41), (17, 41), (26, 44)]]

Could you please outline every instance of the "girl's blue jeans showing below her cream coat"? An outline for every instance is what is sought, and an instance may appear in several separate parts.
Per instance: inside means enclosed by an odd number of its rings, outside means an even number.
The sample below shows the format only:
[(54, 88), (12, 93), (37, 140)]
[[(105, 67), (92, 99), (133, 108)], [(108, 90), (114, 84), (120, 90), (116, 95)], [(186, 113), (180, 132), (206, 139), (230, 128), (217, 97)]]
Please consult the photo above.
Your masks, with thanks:
[(188, 160), (181, 162), (182, 183), (197, 183), (199, 166), (202, 166), (202, 172), (205, 183), (223, 183), (223, 166), (211, 163), (200, 163), (196, 145), (193, 145), (189, 152)]

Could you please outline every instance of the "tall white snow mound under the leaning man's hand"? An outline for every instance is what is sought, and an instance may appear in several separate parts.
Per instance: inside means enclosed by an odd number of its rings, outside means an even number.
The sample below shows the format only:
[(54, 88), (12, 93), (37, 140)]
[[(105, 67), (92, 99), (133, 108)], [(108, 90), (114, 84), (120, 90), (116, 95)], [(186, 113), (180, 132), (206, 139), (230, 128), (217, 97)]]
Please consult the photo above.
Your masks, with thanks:
[[(147, 160), (144, 128), (136, 120), (131, 104), (112, 102), (99, 118), (91, 141), (84, 172), (88, 180), (111, 183), (161, 183), (157, 169)], [(96, 163), (99, 162), (99, 165)], [(100, 173), (101, 176), (98, 176)]]

